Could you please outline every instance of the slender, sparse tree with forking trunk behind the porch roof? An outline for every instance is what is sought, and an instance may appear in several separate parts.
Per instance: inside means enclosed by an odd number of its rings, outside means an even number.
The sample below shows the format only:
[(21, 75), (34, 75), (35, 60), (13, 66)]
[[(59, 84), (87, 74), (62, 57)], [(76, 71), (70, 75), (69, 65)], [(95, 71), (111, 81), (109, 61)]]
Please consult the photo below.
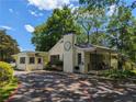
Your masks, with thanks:
[[(103, 9), (87, 10), (86, 8), (79, 8), (77, 14), (77, 22), (82, 26), (84, 34), (87, 35), (86, 43), (101, 45), (100, 43), (97, 42), (103, 39), (102, 36), (100, 35), (100, 33), (102, 33), (102, 35), (104, 34), (103, 30), (104, 24), (106, 22), (105, 11)], [(94, 37), (95, 35), (98, 37), (100, 35), (101, 37), (99, 37), (99, 39), (94, 38), (95, 41), (93, 39), (92, 42), (91, 37)]]

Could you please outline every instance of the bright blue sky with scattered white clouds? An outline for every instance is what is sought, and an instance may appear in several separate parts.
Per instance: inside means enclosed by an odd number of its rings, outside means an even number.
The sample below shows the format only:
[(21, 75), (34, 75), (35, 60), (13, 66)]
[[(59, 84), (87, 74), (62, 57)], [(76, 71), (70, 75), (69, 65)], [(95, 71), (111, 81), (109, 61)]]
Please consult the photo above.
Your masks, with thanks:
[[(129, 4), (135, 0), (125, 0)], [(21, 50), (34, 50), (34, 27), (46, 22), (56, 8), (76, 8), (78, 0), (0, 0), (0, 29), (16, 39)], [(133, 11), (136, 15), (136, 11)]]

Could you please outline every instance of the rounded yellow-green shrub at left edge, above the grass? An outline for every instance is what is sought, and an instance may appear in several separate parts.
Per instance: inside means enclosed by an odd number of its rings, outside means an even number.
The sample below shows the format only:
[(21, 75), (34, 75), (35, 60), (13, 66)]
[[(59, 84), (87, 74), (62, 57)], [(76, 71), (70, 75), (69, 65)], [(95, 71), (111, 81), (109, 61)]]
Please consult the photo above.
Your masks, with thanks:
[(13, 78), (13, 68), (10, 64), (0, 61), (0, 86), (10, 82)]

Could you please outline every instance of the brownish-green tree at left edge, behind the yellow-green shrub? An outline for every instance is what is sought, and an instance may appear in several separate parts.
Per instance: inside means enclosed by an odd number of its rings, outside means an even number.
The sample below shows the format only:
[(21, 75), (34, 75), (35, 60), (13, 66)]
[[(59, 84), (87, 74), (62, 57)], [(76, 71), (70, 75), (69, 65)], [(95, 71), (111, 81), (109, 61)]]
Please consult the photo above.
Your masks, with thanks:
[(10, 35), (7, 35), (5, 30), (0, 30), (0, 60), (11, 61), (11, 55), (19, 53), (18, 43)]

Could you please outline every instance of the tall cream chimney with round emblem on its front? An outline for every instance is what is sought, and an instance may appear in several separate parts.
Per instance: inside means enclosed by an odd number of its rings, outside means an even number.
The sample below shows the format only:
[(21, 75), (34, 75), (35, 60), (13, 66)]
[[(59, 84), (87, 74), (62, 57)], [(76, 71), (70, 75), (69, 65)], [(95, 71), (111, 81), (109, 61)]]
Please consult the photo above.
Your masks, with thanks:
[(73, 72), (75, 67), (75, 34), (64, 35), (64, 71)]

